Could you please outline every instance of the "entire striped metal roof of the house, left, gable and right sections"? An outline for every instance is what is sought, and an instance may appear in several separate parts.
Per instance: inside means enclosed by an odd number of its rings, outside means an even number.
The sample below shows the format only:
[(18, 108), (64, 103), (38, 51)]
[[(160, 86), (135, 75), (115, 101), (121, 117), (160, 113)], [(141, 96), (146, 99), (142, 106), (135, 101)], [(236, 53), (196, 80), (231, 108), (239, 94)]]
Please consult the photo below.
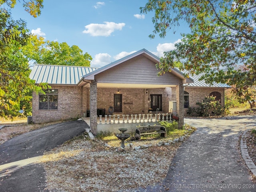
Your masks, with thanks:
[[(79, 67), (79, 66), (60, 66), (60, 65), (38, 65), (36, 64), (31, 73), (30, 79), (36, 80), (36, 84), (47, 82), (48, 84), (63, 84), (63, 85), (78, 85), (79, 82), (82, 81), (82, 77), (86, 79), (94, 79), (94, 75), (98, 74), (104, 70), (110, 69), (113, 66), (116, 66), (130, 58), (138, 56), (139, 54), (144, 54), (149, 59), (152, 59), (156, 62), (159, 62), (159, 58), (149, 52), (146, 49), (142, 49), (138, 52), (130, 54), (120, 60), (112, 62), (102, 68), (96, 67)], [(177, 76), (184, 76), (184, 74), (189, 74), (188, 71), (180, 71), (178, 68), (173, 68), (173, 72), (176, 72)], [(203, 73), (202, 73), (203, 74)], [(188, 84), (189, 87), (213, 87), (213, 88), (231, 88), (227, 84), (215, 83), (212, 85), (207, 84), (204, 80), (199, 80), (202, 76), (193, 75), (188, 79), (194, 81), (193, 83)]]

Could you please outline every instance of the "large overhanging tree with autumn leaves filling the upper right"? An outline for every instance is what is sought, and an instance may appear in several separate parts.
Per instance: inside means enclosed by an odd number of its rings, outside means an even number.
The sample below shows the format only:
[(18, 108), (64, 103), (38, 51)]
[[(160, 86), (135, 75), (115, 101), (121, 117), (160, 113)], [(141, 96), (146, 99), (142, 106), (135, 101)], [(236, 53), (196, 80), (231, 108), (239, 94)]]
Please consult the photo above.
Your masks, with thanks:
[[(154, 31), (161, 38), (180, 22), (190, 27), (176, 49), (165, 52), (157, 67), (159, 74), (170, 71), (176, 62), (190, 75), (203, 74), (208, 83), (236, 85), (236, 94), (252, 100), (248, 87), (256, 84), (256, 4), (255, 0), (149, 0), (141, 12), (154, 11)], [(239, 66), (244, 68), (239, 68)], [(189, 75), (189, 74), (187, 74)]]

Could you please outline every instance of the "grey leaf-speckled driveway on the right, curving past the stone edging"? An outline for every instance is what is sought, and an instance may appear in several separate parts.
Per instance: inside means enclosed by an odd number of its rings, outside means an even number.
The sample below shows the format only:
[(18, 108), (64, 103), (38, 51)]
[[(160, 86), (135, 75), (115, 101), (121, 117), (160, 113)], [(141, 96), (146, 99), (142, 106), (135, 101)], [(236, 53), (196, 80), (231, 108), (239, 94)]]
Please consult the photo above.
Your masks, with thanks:
[(256, 116), (185, 118), (197, 130), (180, 146), (166, 179), (133, 192), (255, 192), (238, 149), (239, 136), (256, 126)]

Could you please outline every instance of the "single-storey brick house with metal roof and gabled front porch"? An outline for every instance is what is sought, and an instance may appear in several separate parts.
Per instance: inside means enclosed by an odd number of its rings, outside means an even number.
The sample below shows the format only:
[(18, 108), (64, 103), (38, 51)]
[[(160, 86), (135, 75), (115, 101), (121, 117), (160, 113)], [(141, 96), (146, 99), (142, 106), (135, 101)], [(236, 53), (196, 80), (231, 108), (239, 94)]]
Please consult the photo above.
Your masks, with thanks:
[[(184, 124), (184, 108), (214, 95), (224, 106), (226, 84), (207, 85), (198, 76), (185, 78), (173, 68), (157, 76), (159, 58), (142, 49), (102, 68), (35, 65), (30, 78), (47, 82), (46, 95), (33, 93), (32, 121), (51, 122), (90, 116), (97, 133), (97, 115), (175, 113)], [(104, 115), (103, 114), (103, 115)]]

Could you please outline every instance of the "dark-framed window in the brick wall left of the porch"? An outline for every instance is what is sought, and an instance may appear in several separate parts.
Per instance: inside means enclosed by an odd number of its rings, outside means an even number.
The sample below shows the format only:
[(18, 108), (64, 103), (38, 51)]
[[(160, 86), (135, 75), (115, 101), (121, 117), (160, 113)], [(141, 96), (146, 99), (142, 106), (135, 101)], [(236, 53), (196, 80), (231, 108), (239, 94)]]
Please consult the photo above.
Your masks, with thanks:
[(39, 109), (54, 110), (58, 109), (58, 90), (47, 89), (44, 94), (39, 94)]

